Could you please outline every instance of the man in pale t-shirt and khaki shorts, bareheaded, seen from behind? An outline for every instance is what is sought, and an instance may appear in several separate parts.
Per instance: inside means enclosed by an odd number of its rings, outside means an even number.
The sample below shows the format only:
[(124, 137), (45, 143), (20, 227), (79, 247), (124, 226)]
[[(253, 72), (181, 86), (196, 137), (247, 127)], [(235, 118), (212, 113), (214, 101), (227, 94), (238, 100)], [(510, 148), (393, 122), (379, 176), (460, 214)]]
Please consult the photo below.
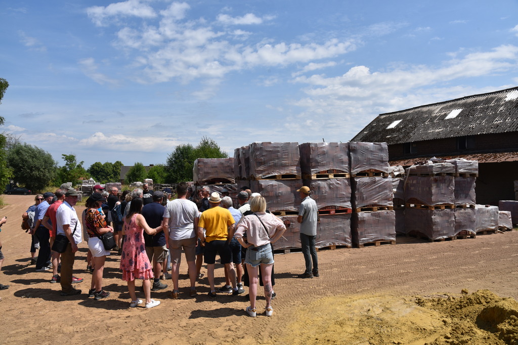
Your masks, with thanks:
[(171, 251), (171, 279), (174, 286), (171, 297), (174, 299), (177, 299), (179, 294), (178, 274), (182, 249), (189, 267), (190, 296), (196, 296), (196, 245), (198, 241), (196, 229), (198, 228), (199, 211), (195, 203), (185, 198), (187, 188), (187, 183), (178, 183), (176, 188), (178, 198), (167, 203), (162, 222), (168, 248)]

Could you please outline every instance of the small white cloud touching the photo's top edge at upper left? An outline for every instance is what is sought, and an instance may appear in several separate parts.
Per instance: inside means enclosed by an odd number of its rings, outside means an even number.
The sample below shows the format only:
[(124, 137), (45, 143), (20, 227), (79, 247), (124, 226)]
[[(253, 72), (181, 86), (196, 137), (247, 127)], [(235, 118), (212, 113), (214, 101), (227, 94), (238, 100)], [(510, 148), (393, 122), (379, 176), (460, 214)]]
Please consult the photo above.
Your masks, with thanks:
[(139, 0), (127, 0), (108, 6), (92, 6), (87, 8), (87, 15), (97, 26), (105, 26), (109, 18), (119, 17), (154, 18), (156, 13), (152, 7)]

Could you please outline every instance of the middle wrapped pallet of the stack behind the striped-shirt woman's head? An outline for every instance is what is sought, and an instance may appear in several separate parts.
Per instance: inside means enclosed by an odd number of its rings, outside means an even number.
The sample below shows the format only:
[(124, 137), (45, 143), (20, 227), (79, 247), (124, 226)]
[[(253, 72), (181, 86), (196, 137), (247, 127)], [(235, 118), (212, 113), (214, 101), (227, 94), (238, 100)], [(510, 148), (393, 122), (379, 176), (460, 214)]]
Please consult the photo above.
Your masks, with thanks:
[(302, 180), (254, 180), (250, 181), (253, 192), (266, 199), (266, 207), (271, 211), (298, 211), (302, 201), (297, 189)]

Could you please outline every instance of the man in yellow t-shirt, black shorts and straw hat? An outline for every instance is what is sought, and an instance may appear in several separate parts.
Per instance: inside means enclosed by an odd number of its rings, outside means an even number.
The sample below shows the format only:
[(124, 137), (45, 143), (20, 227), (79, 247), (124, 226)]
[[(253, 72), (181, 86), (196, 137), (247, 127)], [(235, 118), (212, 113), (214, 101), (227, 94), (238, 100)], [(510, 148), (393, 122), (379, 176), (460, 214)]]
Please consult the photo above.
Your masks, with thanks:
[[(210, 208), (203, 211), (198, 222), (198, 237), (205, 247), (205, 263), (207, 264), (207, 277), (209, 278), (209, 297), (216, 297), (214, 287), (214, 264), (216, 254), (220, 255), (221, 264), (225, 265), (232, 282), (232, 294), (234, 296), (244, 293), (243, 289), (237, 289), (236, 269), (232, 263), (232, 251), (229, 242), (234, 236), (234, 218), (226, 209), (220, 207), (221, 197), (218, 192), (210, 195)], [(205, 235), (203, 233), (205, 229)]]

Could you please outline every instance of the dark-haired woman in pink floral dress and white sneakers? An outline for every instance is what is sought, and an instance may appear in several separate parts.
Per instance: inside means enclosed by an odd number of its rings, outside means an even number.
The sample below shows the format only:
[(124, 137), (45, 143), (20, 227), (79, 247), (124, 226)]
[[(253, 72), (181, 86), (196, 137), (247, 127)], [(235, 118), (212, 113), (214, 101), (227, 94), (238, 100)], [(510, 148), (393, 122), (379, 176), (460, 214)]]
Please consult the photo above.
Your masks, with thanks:
[(153, 268), (146, 254), (144, 234), (154, 235), (162, 226), (150, 228), (143, 215), (142, 199), (135, 198), (131, 201), (130, 210), (124, 218), (122, 235), (125, 235), (121, 253), (122, 280), (127, 281), (128, 291), (132, 299), (130, 307), (135, 308), (142, 303), (135, 294), (135, 279), (142, 279), (142, 287), (146, 297), (146, 308), (153, 308), (160, 304), (160, 301), (151, 299), (151, 281), (153, 279)]

